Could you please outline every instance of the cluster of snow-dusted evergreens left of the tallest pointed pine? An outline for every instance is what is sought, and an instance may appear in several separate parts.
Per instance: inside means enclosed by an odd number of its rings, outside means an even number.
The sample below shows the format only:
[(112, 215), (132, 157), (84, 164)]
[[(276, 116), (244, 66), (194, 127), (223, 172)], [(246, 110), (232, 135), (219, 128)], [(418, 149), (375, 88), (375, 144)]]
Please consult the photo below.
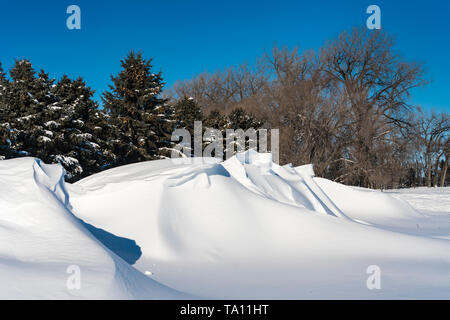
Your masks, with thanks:
[(0, 77), (6, 88), (0, 98), (0, 157), (61, 163), (68, 181), (111, 166), (115, 157), (96, 134), (101, 111), (81, 78), (63, 76), (54, 84), (44, 71), (36, 76), (27, 60), (16, 61), (10, 74), (12, 81)]

